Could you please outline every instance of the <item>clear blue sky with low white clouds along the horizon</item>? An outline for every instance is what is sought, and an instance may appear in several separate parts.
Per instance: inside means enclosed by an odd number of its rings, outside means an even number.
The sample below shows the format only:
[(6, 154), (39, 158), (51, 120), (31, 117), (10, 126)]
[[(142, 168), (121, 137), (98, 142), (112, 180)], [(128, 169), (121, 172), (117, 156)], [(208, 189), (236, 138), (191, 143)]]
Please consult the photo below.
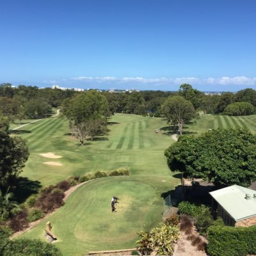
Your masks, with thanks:
[(0, 83), (256, 89), (255, 0), (1, 0)]

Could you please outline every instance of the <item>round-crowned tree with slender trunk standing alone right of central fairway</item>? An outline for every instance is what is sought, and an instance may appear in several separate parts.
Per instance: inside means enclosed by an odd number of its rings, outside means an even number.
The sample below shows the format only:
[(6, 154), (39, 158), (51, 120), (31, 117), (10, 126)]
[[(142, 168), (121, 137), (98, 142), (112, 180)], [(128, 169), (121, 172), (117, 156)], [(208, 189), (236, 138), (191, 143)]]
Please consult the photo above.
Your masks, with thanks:
[(196, 116), (196, 111), (188, 100), (181, 96), (170, 96), (161, 106), (163, 115), (168, 124), (178, 125), (182, 135), (183, 125)]

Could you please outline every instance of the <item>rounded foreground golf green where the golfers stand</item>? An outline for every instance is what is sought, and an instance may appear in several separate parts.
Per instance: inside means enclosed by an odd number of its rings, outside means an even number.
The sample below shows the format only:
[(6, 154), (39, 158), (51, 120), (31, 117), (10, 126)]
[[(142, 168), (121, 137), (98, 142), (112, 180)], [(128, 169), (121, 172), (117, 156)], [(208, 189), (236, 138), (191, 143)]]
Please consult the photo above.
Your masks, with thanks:
[[(51, 221), (58, 237), (56, 246), (63, 255), (84, 255), (90, 250), (132, 248), (138, 232), (161, 221), (162, 202), (150, 181), (132, 177), (107, 177), (77, 188), (54, 215), (23, 237), (43, 239), (44, 227)], [(120, 198), (111, 212), (111, 198)], [(154, 220), (152, 220), (154, 218)]]

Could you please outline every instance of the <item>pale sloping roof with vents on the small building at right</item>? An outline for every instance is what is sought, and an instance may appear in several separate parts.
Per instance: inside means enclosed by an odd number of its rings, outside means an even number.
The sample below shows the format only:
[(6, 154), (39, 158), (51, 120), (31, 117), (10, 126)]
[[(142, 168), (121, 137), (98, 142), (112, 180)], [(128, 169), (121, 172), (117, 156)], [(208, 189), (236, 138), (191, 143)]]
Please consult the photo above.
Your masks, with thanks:
[(256, 191), (253, 189), (233, 185), (212, 191), (210, 194), (235, 221), (256, 216)]

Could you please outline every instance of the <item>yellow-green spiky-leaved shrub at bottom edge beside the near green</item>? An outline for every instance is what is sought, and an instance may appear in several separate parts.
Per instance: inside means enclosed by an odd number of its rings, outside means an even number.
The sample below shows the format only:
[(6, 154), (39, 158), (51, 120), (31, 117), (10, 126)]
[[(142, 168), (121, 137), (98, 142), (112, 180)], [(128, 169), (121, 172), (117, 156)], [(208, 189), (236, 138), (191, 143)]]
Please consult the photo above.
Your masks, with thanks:
[(161, 227), (150, 232), (139, 233), (140, 240), (136, 243), (138, 251), (143, 255), (172, 255), (175, 243), (179, 239), (179, 228), (161, 223)]

